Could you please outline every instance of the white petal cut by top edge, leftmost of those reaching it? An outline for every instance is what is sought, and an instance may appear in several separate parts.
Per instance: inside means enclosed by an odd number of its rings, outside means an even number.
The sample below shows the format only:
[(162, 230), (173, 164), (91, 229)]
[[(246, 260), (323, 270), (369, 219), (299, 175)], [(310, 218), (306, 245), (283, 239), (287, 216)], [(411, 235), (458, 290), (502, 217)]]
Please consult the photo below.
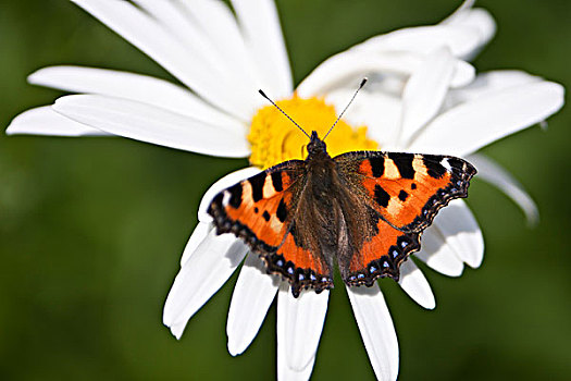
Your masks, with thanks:
[(72, 1), (139, 48), (212, 105), (243, 120), (250, 118), (251, 102), (248, 100), (253, 97), (232, 91), (225, 81), (220, 81), (221, 77), (225, 77), (224, 73), (216, 72), (203, 57), (191, 53), (148, 14), (122, 0)]

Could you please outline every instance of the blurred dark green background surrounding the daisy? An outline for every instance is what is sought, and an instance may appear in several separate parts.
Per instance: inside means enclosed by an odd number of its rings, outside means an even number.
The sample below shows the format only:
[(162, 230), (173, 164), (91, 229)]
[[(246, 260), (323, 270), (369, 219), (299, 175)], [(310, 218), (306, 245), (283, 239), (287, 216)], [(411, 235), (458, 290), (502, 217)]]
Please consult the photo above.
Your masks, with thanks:
[[(394, 28), (431, 24), (451, 0), (281, 0), (296, 83), (326, 57)], [(571, 2), (486, 0), (498, 34), (480, 71), (521, 69), (571, 84)], [(137, 49), (63, 0), (0, 1), (0, 124), (58, 91), (25, 77), (84, 64), (169, 78)], [(571, 113), (484, 151), (537, 200), (541, 223), (474, 181), (481, 269), (425, 271), (437, 308), (381, 282), (397, 329), (400, 380), (571, 379)], [(0, 379), (272, 379), (275, 305), (250, 346), (226, 352), (234, 275), (178, 342), (161, 323), (198, 201), (246, 164), (123, 138), (0, 136)], [(425, 269), (425, 267), (423, 267)], [(330, 300), (313, 379), (372, 379), (343, 287)]]

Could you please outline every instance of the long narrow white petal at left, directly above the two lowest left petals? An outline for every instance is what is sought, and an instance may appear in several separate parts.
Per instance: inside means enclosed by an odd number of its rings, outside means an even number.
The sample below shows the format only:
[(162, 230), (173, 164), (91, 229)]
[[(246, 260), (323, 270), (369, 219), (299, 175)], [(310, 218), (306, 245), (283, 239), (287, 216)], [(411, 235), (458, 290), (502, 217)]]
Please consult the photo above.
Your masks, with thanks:
[(244, 124), (196, 95), (164, 79), (107, 69), (51, 66), (28, 76), (34, 85), (71, 93), (108, 95), (161, 107), (209, 124), (244, 130)]

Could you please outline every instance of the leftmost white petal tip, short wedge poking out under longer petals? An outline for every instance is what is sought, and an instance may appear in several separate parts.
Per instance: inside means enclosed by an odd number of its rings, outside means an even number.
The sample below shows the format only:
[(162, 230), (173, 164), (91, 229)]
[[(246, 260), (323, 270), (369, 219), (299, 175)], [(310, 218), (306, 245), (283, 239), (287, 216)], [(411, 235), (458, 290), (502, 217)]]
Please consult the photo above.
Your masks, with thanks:
[(27, 110), (10, 122), (7, 135), (34, 134), (60, 136), (103, 136), (101, 130), (72, 121), (51, 109), (50, 106)]

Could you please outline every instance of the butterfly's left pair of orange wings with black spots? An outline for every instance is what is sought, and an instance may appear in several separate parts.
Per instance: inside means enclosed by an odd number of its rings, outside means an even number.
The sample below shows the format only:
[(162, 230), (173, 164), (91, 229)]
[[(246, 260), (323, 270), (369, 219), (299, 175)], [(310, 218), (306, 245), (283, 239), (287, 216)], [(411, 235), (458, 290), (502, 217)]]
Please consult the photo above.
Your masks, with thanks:
[(333, 286), (332, 266), (298, 238), (297, 204), (306, 167), (286, 161), (219, 193), (209, 206), (216, 233), (243, 238), (265, 262), (268, 272), (291, 283), (294, 295)]

